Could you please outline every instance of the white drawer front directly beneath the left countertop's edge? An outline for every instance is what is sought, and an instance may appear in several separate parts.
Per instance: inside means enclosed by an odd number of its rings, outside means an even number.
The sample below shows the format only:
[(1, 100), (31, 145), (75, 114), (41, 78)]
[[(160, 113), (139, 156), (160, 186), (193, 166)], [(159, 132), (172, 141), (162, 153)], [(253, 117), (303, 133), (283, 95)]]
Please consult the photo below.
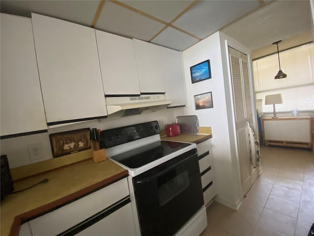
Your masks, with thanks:
[(29, 221), (33, 236), (55, 236), (129, 196), (127, 178)]

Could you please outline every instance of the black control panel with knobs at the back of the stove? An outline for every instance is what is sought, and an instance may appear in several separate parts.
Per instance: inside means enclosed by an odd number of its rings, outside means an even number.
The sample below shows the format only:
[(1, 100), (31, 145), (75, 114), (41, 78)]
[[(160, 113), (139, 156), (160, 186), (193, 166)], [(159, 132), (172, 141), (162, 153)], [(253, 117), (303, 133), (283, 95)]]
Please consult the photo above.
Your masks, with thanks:
[(160, 134), (157, 121), (103, 130), (100, 133), (100, 148), (110, 148), (155, 134)]

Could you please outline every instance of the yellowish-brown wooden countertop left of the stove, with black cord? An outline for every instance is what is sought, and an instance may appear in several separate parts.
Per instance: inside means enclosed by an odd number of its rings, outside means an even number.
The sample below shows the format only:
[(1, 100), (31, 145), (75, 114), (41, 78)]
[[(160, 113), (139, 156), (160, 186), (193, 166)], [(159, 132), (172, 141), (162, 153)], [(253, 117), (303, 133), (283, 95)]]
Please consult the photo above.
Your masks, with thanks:
[(15, 191), (38, 183), (45, 178), (49, 180), (23, 192), (5, 196), (0, 204), (0, 235), (18, 235), (22, 220), (53, 209), (127, 176), (127, 170), (108, 159), (99, 163), (87, 159), (18, 181), (14, 183)]

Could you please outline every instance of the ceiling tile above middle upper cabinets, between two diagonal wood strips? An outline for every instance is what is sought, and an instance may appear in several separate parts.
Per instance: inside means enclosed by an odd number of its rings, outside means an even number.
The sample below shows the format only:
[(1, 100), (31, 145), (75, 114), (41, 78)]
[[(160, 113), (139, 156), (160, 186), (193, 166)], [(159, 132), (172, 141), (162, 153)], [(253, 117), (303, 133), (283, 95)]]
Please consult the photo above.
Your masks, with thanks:
[(148, 41), (165, 25), (131, 11), (125, 7), (105, 1), (96, 29), (127, 37)]

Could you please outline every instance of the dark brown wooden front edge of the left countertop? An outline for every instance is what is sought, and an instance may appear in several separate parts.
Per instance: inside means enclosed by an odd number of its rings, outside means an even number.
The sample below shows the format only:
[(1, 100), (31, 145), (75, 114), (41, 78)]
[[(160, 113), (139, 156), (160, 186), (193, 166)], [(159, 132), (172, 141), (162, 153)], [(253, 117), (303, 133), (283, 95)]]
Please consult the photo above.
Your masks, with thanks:
[(104, 187), (108, 186), (109, 184), (112, 184), (116, 181), (119, 181), (120, 179), (127, 177), (127, 176), (128, 176), (128, 171), (125, 170), (125, 171), (120, 172), (114, 176), (106, 178), (103, 181), (92, 184), (86, 188), (83, 188), (83, 189), (75, 192), (75, 193), (72, 193), (68, 196), (62, 197), (62, 198), (60, 198), (56, 201), (53, 201), (49, 204), (43, 205), (41, 207), (37, 207), (35, 209), (32, 209), (30, 211), (27, 211), (25, 213), (22, 213), (22, 214), (16, 216), (14, 218), (13, 224), (11, 226), (9, 236), (18, 236), (19, 232), (20, 232), (21, 224), (23, 222), (29, 221), (29, 220), (35, 218), (35, 216), (40, 216), (40, 215), (46, 214), (46, 213), (48, 213), (48, 212), (50, 212), (56, 208), (62, 207), (66, 204), (69, 204), (73, 201), (76, 201), (81, 197), (84, 197), (88, 194), (91, 194), (92, 192), (95, 192), (101, 188), (104, 188)]

